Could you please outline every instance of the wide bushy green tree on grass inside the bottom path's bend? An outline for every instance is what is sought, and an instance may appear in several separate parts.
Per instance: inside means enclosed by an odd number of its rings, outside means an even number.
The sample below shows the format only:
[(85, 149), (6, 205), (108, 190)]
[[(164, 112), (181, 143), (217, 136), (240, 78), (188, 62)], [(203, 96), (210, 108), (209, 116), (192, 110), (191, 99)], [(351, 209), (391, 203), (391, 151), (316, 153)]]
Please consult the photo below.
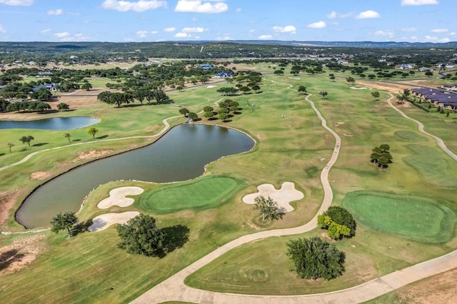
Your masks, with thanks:
[(344, 272), (346, 255), (321, 238), (298, 238), (286, 243), (287, 255), (299, 278), (331, 280)]

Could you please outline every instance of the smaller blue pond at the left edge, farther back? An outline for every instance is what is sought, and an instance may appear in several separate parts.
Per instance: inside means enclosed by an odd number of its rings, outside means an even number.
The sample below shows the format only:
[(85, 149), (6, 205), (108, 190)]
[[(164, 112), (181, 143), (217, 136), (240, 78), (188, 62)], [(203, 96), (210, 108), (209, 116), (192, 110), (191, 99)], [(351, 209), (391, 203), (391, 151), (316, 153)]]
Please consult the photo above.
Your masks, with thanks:
[(73, 130), (99, 123), (91, 117), (54, 117), (34, 121), (0, 121), (0, 130), (6, 128), (32, 128), (37, 130)]

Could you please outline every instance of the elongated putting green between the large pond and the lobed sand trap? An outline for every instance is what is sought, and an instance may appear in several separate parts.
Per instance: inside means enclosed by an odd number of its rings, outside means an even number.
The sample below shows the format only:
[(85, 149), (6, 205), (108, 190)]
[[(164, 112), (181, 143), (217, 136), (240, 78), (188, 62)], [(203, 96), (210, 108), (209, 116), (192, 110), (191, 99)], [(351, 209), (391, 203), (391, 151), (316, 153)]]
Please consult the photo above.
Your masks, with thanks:
[(239, 188), (233, 178), (209, 177), (199, 181), (164, 185), (154, 191), (144, 193), (140, 208), (148, 212), (170, 213), (183, 209), (206, 209), (220, 205), (233, 196)]

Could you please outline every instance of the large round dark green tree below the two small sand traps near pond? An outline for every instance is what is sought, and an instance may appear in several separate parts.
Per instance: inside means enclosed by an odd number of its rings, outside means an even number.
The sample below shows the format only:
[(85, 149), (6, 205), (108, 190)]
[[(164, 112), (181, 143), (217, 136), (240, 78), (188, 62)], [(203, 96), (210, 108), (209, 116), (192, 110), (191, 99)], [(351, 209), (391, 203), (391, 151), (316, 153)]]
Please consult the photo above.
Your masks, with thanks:
[(119, 248), (127, 253), (161, 256), (166, 253), (165, 234), (156, 226), (156, 219), (139, 214), (126, 224), (116, 227), (121, 243)]

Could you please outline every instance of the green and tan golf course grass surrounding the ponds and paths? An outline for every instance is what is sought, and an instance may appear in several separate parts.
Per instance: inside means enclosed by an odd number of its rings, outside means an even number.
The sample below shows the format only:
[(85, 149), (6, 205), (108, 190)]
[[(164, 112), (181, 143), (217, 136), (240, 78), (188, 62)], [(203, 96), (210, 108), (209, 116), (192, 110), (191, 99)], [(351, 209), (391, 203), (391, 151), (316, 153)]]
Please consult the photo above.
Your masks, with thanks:
[[(66, 240), (65, 233), (36, 233), (44, 235), (44, 241), (35, 260), (14, 273), (0, 269), (0, 301), (126, 303), (241, 235), (308, 222), (323, 198), (319, 176), (333, 151), (334, 138), (321, 127), (316, 113), (298, 93), (297, 88), (302, 84), (312, 94), (310, 99), (316, 103), (328, 126), (343, 141), (329, 181), (333, 188), (333, 204), (347, 206), (358, 221), (356, 236), (336, 243), (346, 252), (346, 273), (326, 282), (300, 280), (288, 270), (291, 263), (285, 254), (287, 240), (323, 235), (323, 231), (315, 229), (303, 235), (241, 245), (201, 268), (186, 283), (231, 293), (321, 293), (348, 288), (457, 248), (454, 227), (457, 206), (453, 203), (457, 163), (443, 153), (432, 138), (418, 133), (413, 122), (386, 105), (387, 91), (380, 91), (380, 100), (374, 101), (368, 88), (351, 88), (344, 74), (336, 74), (338, 78), (331, 81), (328, 76), (320, 75), (289, 77), (287, 69), (284, 76), (265, 75), (260, 85), (261, 93), (231, 97), (240, 104), (242, 114), (233, 116), (229, 123), (202, 120), (248, 133), (256, 140), (252, 151), (210, 163), (204, 175), (194, 181), (167, 184), (116, 181), (88, 193), (79, 214), (81, 221), (106, 212), (96, 208), (96, 204), (106, 198), (112, 188), (144, 188), (145, 192), (138, 196), (134, 205), (122, 208), (122, 211), (150, 213), (159, 227), (168, 229), (176, 237), (188, 233), (166, 257), (126, 254), (116, 247), (119, 237), (114, 227), (98, 233), (79, 233), (70, 240)], [(261, 66), (261, 71), (273, 69)], [(356, 86), (368, 87), (370, 84), (369, 81), (357, 81)], [(381, 88), (381, 84), (375, 85)], [(4, 154), (0, 157), (0, 167), (19, 161), (32, 151), (65, 146), (39, 153), (26, 163), (1, 171), (0, 191), (11, 206), (2, 230), (24, 230), (14, 222), (14, 209), (39, 183), (96, 157), (153, 142), (154, 137), (121, 138), (154, 135), (164, 127), (164, 118), (179, 115), (176, 105), (199, 113), (204, 106), (224, 100), (224, 96), (216, 92), (220, 86), (226, 86), (226, 83), (214, 83), (211, 88), (199, 86), (167, 92), (174, 105), (162, 106), (114, 108), (95, 101), (95, 96), (84, 98), (84, 103), (79, 105), (79, 99), (75, 97), (71, 99), (71, 108), (75, 111), (46, 116), (100, 118), (101, 123), (96, 125), (99, 128), (97, 136), (108, 137), (99, 138), (96, 143), (90, 143), (92, 138), (86, 134), (86, 129), (69, 131), (73, 140), (79, 140), (74, 143), (84, 143), (81, 146), (72, 146), (63, 137), (66, 132), (62, 131), (0, 131), (0, 137), (6, 138), (6, 142), (16, 143), (13, 153), (9, 153), (7, 146), (0, 151)], [(386, 90), (398, 91), (398, 87), (386, 87)], [(328, 91), (328, 96), (321, 98), (320, 91)], [(61, 101), (64, 98), (70, 99), (61, 97)], [(446, 118), (415, 107), (402, 106), (401, 109), (422, 121), (427, 131), (440, 136), (449, 148), (457, 151), (457, 131), (450, 128), (455, 126), (456, 114)], [(26, 113), (18, 116), (37, 117)], [(182, 121), (182, 116), (169, 119), (171, 125)], [(36, 138), (33, 143), (41, 146), (29, 148), (18, 143), (17, 138), (29, 134)], [(119, 141), (103, 141), (111, 138)], [(393, 155), (393, 163), (383, 170), (373, 166), (368, 158), (371, 149), (381, 143), (388, 143)], [(91, 151), (94, 152), (91, 154)], [(83, 155), (92, 157), (82, 158)], [(45, 177), (41, 180), (31, 178), (31, 173), (36, 172), (46, 173)], [(279, 188), (284, 181), (295, 183), (305, 197), (293, 203), (295, 210), (287, 213), (283, 220), (263, 222), (251, 206), (241, 203), (241, 198), (255, 192), (256, 186), (272, 183)], [(361, 191), (364, 196), (355, 196)], [(358, 201), (351, 201), (354, 197)], [(370, 208), (373, 202), (378, 207)], [(120, 210), (112, 207), (109, 211)], [(370, 213), (376, 213), (377, 218)], [(396, 216), (401, 221), (393, 221)], [(389, 218), (390, 223), (386, 221)], [(0, 245), (11, 245), (20, 238), (26, 239), (29, 235), (1, 235)], [(19, 253), (28, 250), (24, 246), (21, 248)]]

